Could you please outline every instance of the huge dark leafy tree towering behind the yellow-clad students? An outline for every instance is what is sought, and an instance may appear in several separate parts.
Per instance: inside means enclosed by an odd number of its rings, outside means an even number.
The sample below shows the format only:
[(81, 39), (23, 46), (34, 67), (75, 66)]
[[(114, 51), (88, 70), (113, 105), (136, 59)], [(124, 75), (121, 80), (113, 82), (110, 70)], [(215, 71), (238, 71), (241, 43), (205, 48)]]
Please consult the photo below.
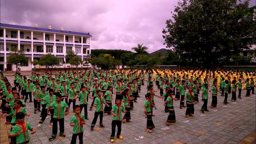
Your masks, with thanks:
[(248, 0), (182, 0), (166, 21), (164, 44), (182, 59), (211, 67), (255, 44), (253, 17)]

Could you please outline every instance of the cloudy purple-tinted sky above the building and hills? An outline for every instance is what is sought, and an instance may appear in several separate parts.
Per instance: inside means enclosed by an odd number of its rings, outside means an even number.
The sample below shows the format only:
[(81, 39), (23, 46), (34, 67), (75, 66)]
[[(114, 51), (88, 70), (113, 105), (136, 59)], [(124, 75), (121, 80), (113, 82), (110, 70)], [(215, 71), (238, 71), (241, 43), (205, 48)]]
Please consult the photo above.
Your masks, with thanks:
[[(92, 34), (92, 49), (165, 48), (162, 28), (178, 0), (1, 0), (0, 22)], [(255, 5), (255, 0), (252, 2)]]

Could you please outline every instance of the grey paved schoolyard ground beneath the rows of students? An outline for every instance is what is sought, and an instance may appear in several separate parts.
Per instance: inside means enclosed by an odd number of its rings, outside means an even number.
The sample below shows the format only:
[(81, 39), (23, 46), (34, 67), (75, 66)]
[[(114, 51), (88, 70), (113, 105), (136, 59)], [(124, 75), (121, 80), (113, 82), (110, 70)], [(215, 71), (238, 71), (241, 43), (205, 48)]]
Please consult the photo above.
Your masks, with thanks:
[[(7, 76), (12, 82), (12, 77)], [(155, 89), (157, 89), (155, 87)], [(201, 92), (200, 92), (201, 93)], [(208, 109), (209, 112), (201, 113), (200, 109), (203, 102), (195, 104), (195, 117), (185, 118), (186, 108), (179, 109), (180, 101), (174, 101), (174, 109), (176, 113), (176, 123), (167, 126), (165, 124), (168, 113), (164, 112), (164, 105), (161, 98), (155, 98), (157, 109), (153, 110), (155, 117), (153, 122), (156, 126), (153, 133), (145, 132), (146, 118), (143, 114), (144, 95), (146, 94), (146, 83), (142, 86), (138, 103), (134, 103), (134, 110), (131, 111), (131, 122), (122, 124), (122, 132), (124, 139), (116, 139), (115, 143), (119, 144), (250, 144), (255, 143), (255, 95), (244, 97), (246, 91), (242, 91), (242, 99), (231, 101), (231, 94), (228, 96), (230, 104), (223, 105), (224, 97), (218, 94), (218, 107), (211, 109), (211, 92), (209, 92)], [(159, 91), (156, 92), (159, 95)], [(201, 95), (201, 94), (200, 94)], [(200, 96), (201, 97), (201, 96)], [(78, 101), (76, 101), (79, 104)], [(89, 99), (91, 104), (92, 99)], [(72, 105), (72, 104), (71, 104)], [(42, 126), (37, 124), (40, 120), (40, 113), (34, 114), (33, 103), (27, 103), (26, 110), (31, 113), (26, 120), (31, 123), (33, 128), (37, 130), (36, 134), (31, 135), (31, 144), (70, 144), (72, 129), (69, 125), (72, 113), (65, 116), (65, 138), (56, 138), (48, 141), (52, 134), (52, 126), (49, 126), (49, 119), (46, 119)], [(72, 106), (71, 106), (72, 107)], [(71, 108), (72, 109), (72, 108)], [(94, 110), (89, 111), (89, 120), (83, 126), (83, 143), (84, 144), (109, 144), (111, 133), (112, 116), (105, 115), (103, 124), (105, 128), (99, 128), (99, 119), (95, 129), (91, 132), (90, 125), (94, 117)], [(82, 112), (83, 113), (83, 112)], [(1, 144), (8, 143), (7, 131), (9, 125), (3, 123), (1, 119)], [(7, 130), (8, 129), (8, 130)], [(78, 138), (77, 138), (78, 143)]]

